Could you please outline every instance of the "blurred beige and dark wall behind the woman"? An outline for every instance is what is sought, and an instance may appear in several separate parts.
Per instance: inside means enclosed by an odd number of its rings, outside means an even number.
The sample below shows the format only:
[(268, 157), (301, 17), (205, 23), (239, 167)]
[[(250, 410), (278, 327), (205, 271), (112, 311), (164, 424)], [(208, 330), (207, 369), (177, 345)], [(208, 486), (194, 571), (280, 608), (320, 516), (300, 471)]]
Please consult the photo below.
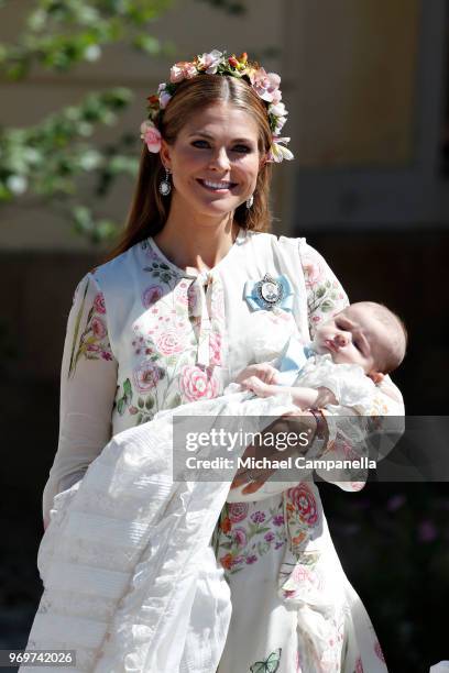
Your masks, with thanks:
[[(17, 38), (34, 4), (0, 9), (0, 41)], [(151, 25), (174, 43), (171, 55), (113, 45), (63, 75), (35, 68), (22, 81), (1, 79), (2, 125), (39, 123), (92, 89), (127, 86), (133, 102), (96, 141), (135, 134), (138, 154), (145, 98), (173, 62), (215, 47), (260, 55), (266, 70), (282, 75), (296, 157), (274, 170), (273, 230), (306, 236), (352, 300), (380, 300), (404, 318), (409, 350), (394, 378), (407, 411), (446, 415), (449, 2), (248, 0), (237, 14), (211, 4), (178, 0)], [(86, 198), (124, 221), (132, 188), (123, 178), (101, 202)], [(88, 177), (79, 189), (88, 194)], [(2, 648), (24, 646), (39, 602), (40, 498), (56, 450), (65, 324), (78, 280), (107, 249), (30, 195), (1, 206)], [(446, 484), (322, 493), (390, 670), (427, 671), (449, 659), (438, 636), (449, 585)]]

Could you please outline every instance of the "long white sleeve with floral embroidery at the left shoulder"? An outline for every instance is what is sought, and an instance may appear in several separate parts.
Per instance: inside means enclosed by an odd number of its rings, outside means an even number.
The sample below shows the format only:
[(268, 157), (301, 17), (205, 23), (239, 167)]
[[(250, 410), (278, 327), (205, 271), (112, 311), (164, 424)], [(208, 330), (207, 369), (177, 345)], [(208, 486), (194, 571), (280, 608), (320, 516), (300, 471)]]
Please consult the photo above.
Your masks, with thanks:
[(61, 368), (59, 435), (43, 494), (44, 528), (56, 494), (80, 479), (111, 438), (117, 389), (105, 297), (94, 273), (79, 282), (67, 320)]

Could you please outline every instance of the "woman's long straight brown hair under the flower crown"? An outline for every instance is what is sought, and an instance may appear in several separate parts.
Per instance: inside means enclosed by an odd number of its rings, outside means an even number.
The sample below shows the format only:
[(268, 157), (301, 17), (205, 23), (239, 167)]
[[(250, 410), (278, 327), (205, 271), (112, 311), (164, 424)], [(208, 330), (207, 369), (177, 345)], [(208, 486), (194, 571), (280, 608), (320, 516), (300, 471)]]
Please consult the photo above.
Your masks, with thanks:
[[(249, 112), (255, 119), (259, 125), (259, 152), (266, 154), (272, 142), (266, 107), (243, 79), (222, 75), (198, 75), (184, 80), (166, 109), (160, 112), (156, 125), (163, 139), (173, 144), (184, 124), (198, 109), (222, 101)], [(160, 154), (149, 152), (144, 145), (127, 225), (105, 262), (117, 257), (147, 236), (154, 236), (163, 229), (172, 199), (171, 195), (163, 197), (158, 191), (164, 175)], [(248, 209), (245, 203), (242, 203), (236, 209), (234, 221), (240, 227), (254, 231), (270, 229), (270, 181), (271, 164), (265, 163), (258, 175), (252, 208)]]

